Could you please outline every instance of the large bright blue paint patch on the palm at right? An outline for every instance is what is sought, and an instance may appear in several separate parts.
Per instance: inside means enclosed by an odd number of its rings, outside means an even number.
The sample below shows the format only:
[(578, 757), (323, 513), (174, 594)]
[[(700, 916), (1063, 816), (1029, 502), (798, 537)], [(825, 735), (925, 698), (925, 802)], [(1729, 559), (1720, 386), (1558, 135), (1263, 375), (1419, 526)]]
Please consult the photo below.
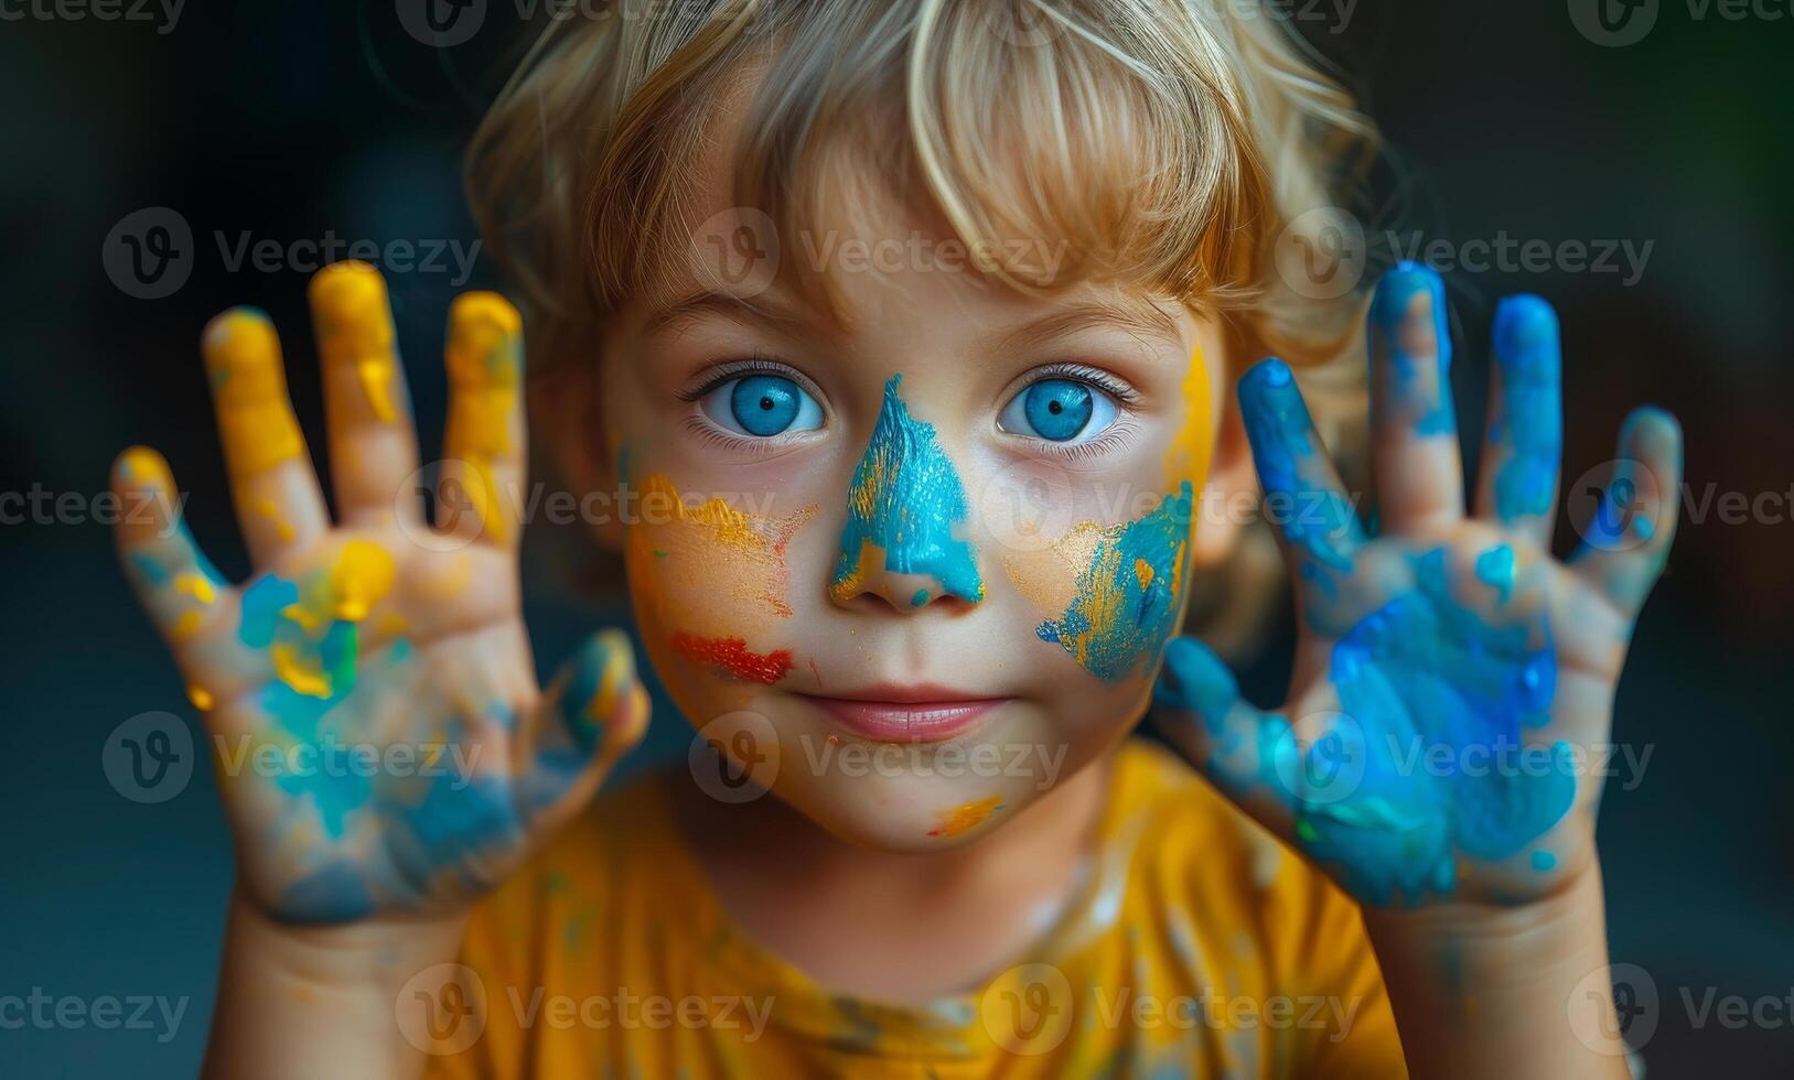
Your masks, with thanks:
[[(1521, 743), (1525, 728), (1548, 719), (1557, 692), (1548, 631), (1532, 646), (1525, 626), (1494, 628), (1459, 605), (1444, 554), (1414, 556), (1414, 588), (1333, 646), (1331, 678), (1362, 732), (1363, 779), (1337, 800), (1295, 798), (1310, 854), (1340, 865), (1347, 888), (1371, 904), (1450, 893), (1455, 852), (1511, 858), (1575, 802), (1570, 746)], [(1424, 757), (1432, 746), (1450, 748), (1444, 768)], [(1417, 764), (1403, 768), (1415, 752)], [(1514, 755), (1520, 768), (1460, 770)]]

